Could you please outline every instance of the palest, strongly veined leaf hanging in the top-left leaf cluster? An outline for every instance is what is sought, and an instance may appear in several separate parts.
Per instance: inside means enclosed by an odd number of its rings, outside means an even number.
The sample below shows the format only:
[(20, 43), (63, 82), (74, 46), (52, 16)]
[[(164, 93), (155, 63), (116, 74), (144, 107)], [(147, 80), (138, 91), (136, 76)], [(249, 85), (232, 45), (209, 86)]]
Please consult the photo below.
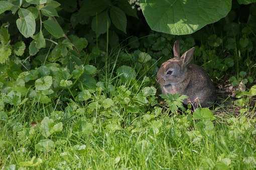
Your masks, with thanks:
[(16, 21), (18, 29), (26, 38), (32, 37), (36, 31), (36, 20), (33, 13), (28, 9), (20, 8), (19, 16), (20, 18)]

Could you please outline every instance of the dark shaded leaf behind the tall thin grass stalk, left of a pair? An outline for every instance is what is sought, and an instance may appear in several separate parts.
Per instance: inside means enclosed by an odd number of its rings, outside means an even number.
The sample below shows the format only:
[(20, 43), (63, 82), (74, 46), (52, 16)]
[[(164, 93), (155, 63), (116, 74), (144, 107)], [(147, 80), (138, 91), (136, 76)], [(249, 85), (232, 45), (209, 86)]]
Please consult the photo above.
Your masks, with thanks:
[(100, 34), (103, 34), (107, 31), (110, 24), (111, 21), (109, 19), (107, 10), (105, 10), (93, 17), (91, 28), (94, 32), (96, 32), (96, 35), (99, 36)]

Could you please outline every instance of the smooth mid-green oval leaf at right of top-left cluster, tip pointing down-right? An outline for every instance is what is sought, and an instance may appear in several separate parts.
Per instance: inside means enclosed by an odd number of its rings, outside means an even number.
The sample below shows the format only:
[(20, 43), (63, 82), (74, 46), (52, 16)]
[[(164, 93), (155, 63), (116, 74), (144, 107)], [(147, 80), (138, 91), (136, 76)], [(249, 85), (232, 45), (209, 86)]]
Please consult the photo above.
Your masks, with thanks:
[(65, 35), (59, 23), (53, 19), (45, 20), (44, 27), (49, 33), (51, 33), (56, 38), (60, 38)]

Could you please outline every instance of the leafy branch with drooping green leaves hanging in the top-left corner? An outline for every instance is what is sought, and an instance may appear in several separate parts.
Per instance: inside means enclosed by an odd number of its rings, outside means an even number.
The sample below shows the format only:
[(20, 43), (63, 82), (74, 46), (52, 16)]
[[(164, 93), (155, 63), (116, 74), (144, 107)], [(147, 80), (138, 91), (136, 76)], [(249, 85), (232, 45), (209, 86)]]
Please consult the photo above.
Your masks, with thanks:
[[(46, 46), (46, 40), (43, 33), (44, 28), (55, 38), (64, 37), (64, 31), (55, 17), (58, 17), (56, 8), (60, 3), (55, 0), (11, 0), (0, 1), (0, 14), (11, 10), (13, 14), (18, 13), (16, 20), (17, 27), (21, 34), (33, 40), (29, 45), (30, 55), (35, 55), (39, 49)], [(39, 30), (36, 31), (36, 21), (39, 20)]]

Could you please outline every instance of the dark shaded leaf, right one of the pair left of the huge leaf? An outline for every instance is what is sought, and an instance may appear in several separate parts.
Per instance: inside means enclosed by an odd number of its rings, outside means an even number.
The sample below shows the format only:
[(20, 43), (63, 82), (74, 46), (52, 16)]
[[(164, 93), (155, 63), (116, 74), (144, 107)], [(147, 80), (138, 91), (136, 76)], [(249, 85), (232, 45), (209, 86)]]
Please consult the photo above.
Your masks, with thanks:
[(126, 33), (127, 18), (120, 8), (112, 6), (110, 8), (110, 18), (117, 29)]

